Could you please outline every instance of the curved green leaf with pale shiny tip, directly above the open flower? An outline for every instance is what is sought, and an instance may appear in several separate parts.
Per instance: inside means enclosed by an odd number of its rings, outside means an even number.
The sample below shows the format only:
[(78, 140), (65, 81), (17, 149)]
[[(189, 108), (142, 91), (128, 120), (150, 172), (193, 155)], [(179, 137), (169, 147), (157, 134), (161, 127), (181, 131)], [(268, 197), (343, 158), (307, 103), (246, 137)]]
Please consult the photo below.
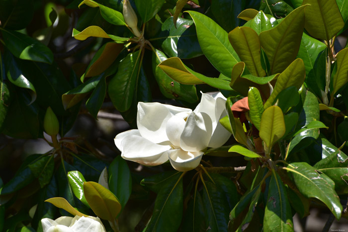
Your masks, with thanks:
[(171, 77), (168, 77), (168, 75), (158, 67), (162, 61), (167, 60), (167, 57), (160, 50), (156, 49), (155, 51), (156, 53), (152, 54), (152, 71), (162, 94), (168, 98), (184, 100), (190, 103), (198, 101), (195, 85), (181, 84)]

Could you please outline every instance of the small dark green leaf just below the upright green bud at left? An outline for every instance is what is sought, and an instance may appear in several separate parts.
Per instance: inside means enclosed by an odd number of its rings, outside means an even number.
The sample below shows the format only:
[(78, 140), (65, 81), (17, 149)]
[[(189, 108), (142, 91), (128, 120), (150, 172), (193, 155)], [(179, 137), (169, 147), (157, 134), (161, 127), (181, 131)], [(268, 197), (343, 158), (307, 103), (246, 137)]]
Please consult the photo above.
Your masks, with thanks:
[(40, 187), (47, 185), (54, 171), (54, 159), (52, 156), (44, 156), (28, 165), (35, 178), (39, 179)]

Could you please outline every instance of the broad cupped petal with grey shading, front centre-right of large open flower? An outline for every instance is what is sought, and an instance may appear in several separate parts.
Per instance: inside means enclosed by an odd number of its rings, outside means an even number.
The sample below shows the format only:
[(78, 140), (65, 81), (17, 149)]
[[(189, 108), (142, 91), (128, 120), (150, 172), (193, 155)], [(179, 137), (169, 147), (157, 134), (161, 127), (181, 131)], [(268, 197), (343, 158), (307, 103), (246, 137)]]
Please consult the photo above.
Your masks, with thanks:
[(192, 112), (180, 137), (180, 148), (187, 152), (199, 152), (208, 147), (213, 132), (212, 122), (206, 113)]

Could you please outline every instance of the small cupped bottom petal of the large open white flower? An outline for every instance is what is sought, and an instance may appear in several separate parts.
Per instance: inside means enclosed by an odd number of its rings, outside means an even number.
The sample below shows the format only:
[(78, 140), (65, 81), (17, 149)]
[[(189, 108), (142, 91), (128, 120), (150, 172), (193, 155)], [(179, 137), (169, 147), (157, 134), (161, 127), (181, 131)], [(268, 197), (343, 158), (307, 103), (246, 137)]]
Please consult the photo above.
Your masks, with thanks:
[(203, 154), (203, 152), (185, 152), (181, 149), (168, 151), (169, 160), (174, 169), (178, 171), (189, 171), (196, 168)]

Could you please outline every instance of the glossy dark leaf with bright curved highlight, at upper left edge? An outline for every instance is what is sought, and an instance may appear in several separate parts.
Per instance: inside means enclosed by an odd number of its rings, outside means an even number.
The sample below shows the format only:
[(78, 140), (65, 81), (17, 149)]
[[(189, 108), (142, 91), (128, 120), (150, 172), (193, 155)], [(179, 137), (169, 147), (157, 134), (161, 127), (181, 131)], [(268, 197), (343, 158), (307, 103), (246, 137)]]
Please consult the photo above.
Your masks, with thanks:
[(16, 31), (2, 29), (1, 32), (6, 48), (15, 57), (49, 64), (53, 62), (52, 51), (36, 39)]

